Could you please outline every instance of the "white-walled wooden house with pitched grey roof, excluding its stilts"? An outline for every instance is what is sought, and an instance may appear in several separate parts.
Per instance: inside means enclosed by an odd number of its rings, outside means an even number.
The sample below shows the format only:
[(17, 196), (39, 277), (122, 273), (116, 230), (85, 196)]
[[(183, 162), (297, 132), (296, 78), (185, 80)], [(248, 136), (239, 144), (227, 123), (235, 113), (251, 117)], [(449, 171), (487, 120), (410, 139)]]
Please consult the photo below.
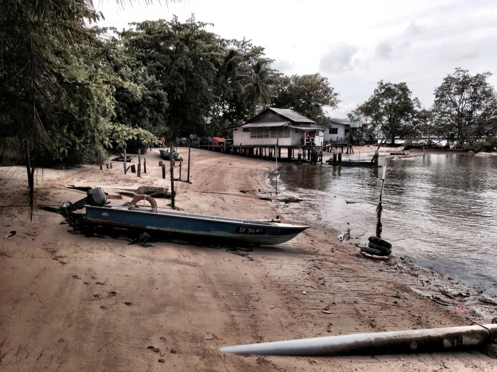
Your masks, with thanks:
[(267, 108), (245, 124), (233, 127), (235, 146), (322, 146), (325, 129), (288, 109)]

